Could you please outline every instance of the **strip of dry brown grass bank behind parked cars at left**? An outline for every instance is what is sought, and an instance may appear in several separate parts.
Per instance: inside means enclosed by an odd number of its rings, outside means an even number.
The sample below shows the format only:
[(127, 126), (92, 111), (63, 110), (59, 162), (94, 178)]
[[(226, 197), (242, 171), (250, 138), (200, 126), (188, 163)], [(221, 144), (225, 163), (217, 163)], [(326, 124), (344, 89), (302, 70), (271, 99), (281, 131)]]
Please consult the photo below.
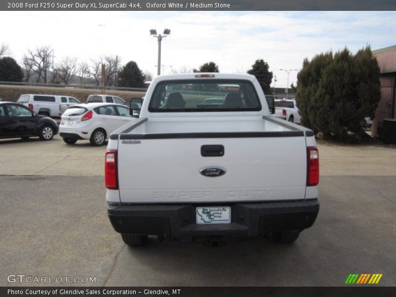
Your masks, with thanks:
[[(0, 98), (4, 101), (16, 102), (22, 94), (49, 94), (71, 96), (85, 102), (87, 97), (92, 94), (100, 94), (100, 90), (78, 89), (78, 88), (56, 88), (56, 87), (34, 87), (34, 86), (11, 86), (0, 85)], [(129, 102), (129, 99), (144, 97), (146, 92), (137, 91), (113, 91), (106, 90), (105, 94), (121, 97)]]

